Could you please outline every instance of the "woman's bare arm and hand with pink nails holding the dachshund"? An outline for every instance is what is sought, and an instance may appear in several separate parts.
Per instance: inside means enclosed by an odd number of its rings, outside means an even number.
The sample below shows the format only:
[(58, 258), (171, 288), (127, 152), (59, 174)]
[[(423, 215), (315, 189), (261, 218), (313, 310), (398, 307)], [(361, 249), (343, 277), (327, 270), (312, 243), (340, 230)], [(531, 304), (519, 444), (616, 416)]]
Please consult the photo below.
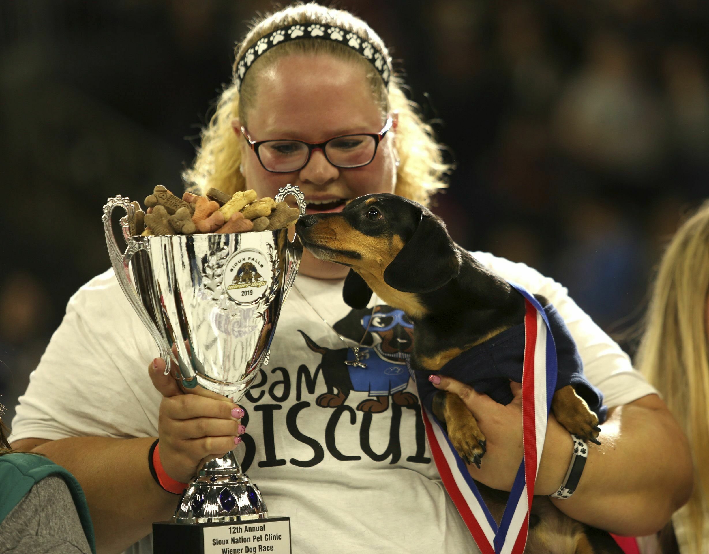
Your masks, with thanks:
[[(450, 377), (434, 386), (457, 394), (475, 416), (487, 439), (481, 468), (469, 465), (472, 477), (493, 489), (509, 491), (523, 455), (521, 387), (510, 384), (514, 400), (503, 406)], [(564, 514), (588, 525), (625, 536), (659, 531), (692, 490), (689, 447), (664, 402), (656, 394), (610, 409), (598, 436), (589, 445), (579, 486), (569, 499), (552, 499)], [(535, 494), (552, 494), (571, 462), (572, 441), (553, 415)]]

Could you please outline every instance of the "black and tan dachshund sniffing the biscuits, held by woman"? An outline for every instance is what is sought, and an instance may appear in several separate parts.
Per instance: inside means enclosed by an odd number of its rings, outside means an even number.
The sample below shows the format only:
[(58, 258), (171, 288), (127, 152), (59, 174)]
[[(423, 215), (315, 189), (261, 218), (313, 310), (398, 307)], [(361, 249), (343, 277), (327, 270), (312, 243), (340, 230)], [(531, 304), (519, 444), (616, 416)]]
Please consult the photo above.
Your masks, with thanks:
[[(340, 213), (302, 216), (296, 231), (314, 256), (350, 267), (342, 290), (347, 304), (362, 309), (374, 291), (413, 321), (410, 363), (415, 371), (437, 372), (459, 356), (464, 359), (476, 347), (486, 348), (484, 345), (494, 342), (493, 337), (501, 340), (523, 323), (524, 297), (455, 244), (445, 224), (411, 200), (394, 194), (361, 196)], [(542, 306), (548, 304), (543, 297), (537, 299)], [(549, 309), (554, 311), (552, 306), (545, 306), (545, 311)], [(557, 320), (561, 321), (558, 314)], [(561, 356), (559, 348), (566, 344), (580, 364), (573, 339), (563, 323), (560, 325), (560, 329), (552, 325), (557, 353)], [(475, 375), (480, 370), (478, 363), (469, 371), (474, 375), (457, 378), (497, 401), (510, 401), (509, 379), (504, 378), (506, 387), (500, 387), (499, 380)], [(521, 375), (521, 367), (518, 370)], [(476, 379), (492, 384), (492, 389), (479, 388)], [(582, 375), (562, 379), (560, 362), (552, 399), (557, 421), (570, 433), (600, 444), (598, 416), (605, 416), (605, 406), (601, 404), (602, 397)], [(486, 440), (462, 400), (455, 394), (437, 391), (431, 406), (459, 455), (480, 467)], [(499, 524), (508, 494), (478, 486)], [(535, 497), (532, 503), (525, 551), (622, 553), (608, 533), (570, 519), (548, 497)]]

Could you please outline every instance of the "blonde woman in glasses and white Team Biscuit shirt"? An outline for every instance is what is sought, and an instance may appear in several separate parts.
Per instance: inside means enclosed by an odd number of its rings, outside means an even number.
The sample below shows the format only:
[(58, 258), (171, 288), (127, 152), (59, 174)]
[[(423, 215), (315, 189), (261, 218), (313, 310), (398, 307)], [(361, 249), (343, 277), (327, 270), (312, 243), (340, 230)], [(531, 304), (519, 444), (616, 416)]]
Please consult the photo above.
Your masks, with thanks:
[[(237, 49), (233, 83), (186, 181), (200, 190), (248, 187), (259, 196), (297, 184), (310, 213), (337, 211), (373, 192), (428, 201), (446, 167), (390, 64), (376, 33), (345, 11), (308, 4), (263, 18)], [(367, 159), (352, 164), (347, 151), (362, 145)], [(476, 256), (557, 306), (589, 380), (608, 406), (622, 406), (611, 410), (603, 445), (589, 455), (574, 497), (554, 502), (616, 533), (657, 531), (685, 502), (691, 470), (683, 437), (655, 390), (559, 284), (524, 265)], [(342, 267), (303, 255), (269, 366), (241, 408), (180, 394), (162, 375), (164, 362), (149, 361), (155, 345), (112, 272), (92, 279), (69, 301), (21, 397), (16, 445), (40, 445), (77, 475), (106, 552), (131, 545), (149, 552), (151, 523), (172, 516), (177, 499), (147, 465), (155, 437), (164, 472), (177, 482), (239, 443), (269, 514), (291, 517), (294, 552), (476, 551), (423, 439), (405, 373), (411, 322), (376, 299), (361, 313), (350, 310), (341, 299), (344, 276)], [(371, 372), (353, 377), (349, 396), (333, 394), (324, 353), (352, 345), (372, 347), (365, 352)], [(520, 461), (510, 446), (521, 443), (520, 412), (492, 406), (488, 413), (488, 453), (471, 473), (509, 490)], [(559, 427), (549, 426), (538, 494), (556, 491), (569, 466), (571, 437)]]

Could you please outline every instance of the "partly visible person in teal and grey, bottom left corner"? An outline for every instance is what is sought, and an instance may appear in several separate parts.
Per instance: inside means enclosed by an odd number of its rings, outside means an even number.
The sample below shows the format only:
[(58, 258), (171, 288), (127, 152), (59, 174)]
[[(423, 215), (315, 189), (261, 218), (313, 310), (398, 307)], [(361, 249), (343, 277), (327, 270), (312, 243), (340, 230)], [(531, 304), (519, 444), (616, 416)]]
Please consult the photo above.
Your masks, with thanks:
[(77, 480), (42, 455), (13, 453), (5, 430), (0, 420), (0, 552), (96, 554)]

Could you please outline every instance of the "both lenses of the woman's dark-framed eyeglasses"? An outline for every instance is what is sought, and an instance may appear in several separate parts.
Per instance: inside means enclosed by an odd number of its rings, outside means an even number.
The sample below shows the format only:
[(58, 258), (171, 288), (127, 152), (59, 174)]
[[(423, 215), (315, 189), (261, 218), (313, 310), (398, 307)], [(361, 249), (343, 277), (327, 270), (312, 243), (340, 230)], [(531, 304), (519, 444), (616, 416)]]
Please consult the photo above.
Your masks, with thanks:
[[(369, 135), (333, 138), (325, 145), (325, 157), (337, 167), (367, 165), (375, 152), (376, 141)], [(297, 140), (267, 140), (259, 145), (259, 157), (269, 171), (296, 171), (308, 161), (308, 145)]]

